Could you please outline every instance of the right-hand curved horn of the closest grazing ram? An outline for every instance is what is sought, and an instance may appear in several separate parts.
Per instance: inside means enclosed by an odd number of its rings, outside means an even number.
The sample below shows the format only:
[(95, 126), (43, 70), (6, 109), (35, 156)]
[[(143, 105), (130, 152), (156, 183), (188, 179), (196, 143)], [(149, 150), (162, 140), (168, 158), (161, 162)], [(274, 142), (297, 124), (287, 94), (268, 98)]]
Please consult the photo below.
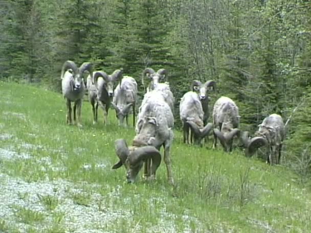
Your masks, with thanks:
[(148, 158), (152, 159), (151, 174), (154, 174), (161, 164), (161, 153), (156, 147), (140, 147), (132, 151), (128, 156), (130, 165), (136, 165), (138, 162), (144, 161)]

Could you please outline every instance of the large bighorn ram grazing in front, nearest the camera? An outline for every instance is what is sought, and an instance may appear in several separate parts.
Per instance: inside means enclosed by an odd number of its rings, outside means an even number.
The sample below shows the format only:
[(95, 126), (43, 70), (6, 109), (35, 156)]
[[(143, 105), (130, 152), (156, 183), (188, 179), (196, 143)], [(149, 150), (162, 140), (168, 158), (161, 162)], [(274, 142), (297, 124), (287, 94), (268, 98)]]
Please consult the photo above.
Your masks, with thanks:
[(127, 170), (127, 181), (134, 182), (145, 162), (144, 177), (153, 179), (161, 162), (159, 150), (163, 146), (167, 177), (173, 184), (170, 160), (173, 114), (161, 91), (153, 90), (146, 95), (148, 95), (148, 100), (143, 101), (144, 105), (139, 113), (136, 136), (132, 146), (127, 147), (124, 139), (118, 139), (115, 143), (116, 153), (120, 160), (113, 166), (113, 169), (124, 165)]

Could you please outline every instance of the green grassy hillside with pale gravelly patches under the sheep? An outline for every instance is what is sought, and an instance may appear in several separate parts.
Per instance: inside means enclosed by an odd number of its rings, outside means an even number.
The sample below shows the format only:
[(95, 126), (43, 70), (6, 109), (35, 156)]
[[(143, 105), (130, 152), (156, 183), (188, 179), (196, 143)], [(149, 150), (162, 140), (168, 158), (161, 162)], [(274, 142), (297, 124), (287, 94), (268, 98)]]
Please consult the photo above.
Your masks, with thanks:
[[(0, 232), (309, 232), (310, 190), (281, 166), (236, 150), (181, 144), (171, 150), (175, 186), (164, 163), (157, 180), (125, 182), (114, 141), (134, 128), (65, 124), (61, 95), (0, 82)], [(131, 122), (131, 121), (130, 121)], [(210, 142), (211, 143), (211, 142)]]

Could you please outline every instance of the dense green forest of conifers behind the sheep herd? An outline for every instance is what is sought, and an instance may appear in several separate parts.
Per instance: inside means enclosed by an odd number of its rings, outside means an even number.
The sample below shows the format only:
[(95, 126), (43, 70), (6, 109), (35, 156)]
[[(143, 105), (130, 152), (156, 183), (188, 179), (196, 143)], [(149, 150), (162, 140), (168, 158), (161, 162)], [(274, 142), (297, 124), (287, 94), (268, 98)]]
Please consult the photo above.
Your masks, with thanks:
[(211, 104), (221, 95), (232, 98), (243, 130), (254, 132), (264, 117), (281, 114), (288, 121), (285, 161), (309, 167), (309, 0), (5, 0), (0, 5), (1, 80), (60, 91), (62, 63), (90, 61), (107, 73), (122, 67), (142, 93), (143, 69), (166, 68), (178, 108), (193, 79), (212, 79), (217, 91), (210, 94)]

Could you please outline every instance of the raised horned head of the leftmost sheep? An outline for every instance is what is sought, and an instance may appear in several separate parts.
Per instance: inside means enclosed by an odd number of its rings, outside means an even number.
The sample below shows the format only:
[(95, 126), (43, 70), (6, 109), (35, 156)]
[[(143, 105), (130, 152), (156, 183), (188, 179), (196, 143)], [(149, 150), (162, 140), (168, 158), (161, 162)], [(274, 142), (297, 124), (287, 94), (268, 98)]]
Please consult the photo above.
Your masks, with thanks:
[(81, 88), (81, 86), (84, 83), (83, 80), (83, 73), (85, 71), (88, 71), (91, 76), (93, 76), (93, 70), (92, 70), (92, 64), (90, 62), (84, 62), (79, 68), (77, 67), (76, 63), (73, 61), (65, 61), (62, 69), (61, 69), (61, 76), (62, 79), (64, 76), (65, 71), (70, 71), (73, 75), (73, 81), (72, 81), (72, 90), (76, 91)]

